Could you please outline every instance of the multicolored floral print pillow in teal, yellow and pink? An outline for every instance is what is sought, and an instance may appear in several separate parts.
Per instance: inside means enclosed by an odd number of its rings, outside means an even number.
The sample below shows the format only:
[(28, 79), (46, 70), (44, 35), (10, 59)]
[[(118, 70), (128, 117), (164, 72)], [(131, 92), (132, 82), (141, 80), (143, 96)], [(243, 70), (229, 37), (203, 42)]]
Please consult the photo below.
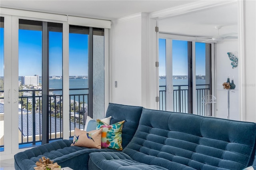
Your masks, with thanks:
[(108, 125), (97, 119), (97, 129), (102, 129), (101, 148), (122, 150), (122, 128), (125, 121)]

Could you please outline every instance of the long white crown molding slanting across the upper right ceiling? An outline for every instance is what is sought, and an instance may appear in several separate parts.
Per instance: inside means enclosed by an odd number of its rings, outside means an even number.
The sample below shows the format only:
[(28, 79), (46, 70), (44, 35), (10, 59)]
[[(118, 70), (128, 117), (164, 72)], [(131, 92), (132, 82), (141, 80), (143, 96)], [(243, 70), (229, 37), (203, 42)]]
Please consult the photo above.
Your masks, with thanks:
[(212, 8), (212, 7), (220, 6), (224, 4), (230, 4), (234, 2), (237, 2), (237, 0), (206, 0), (206, 1), (201, 0), (201, 1), (192, 2), (189, 4), (176, 6), (173, 8), (168, 8), (165, 10), (151, 12), (149, 14), (149, 18), (157, 20), (157, 19), (167, 18), (171, 16), (186, 14), (186, 13), (197, 11), (197, 10), (203, 10), (206, 8)]

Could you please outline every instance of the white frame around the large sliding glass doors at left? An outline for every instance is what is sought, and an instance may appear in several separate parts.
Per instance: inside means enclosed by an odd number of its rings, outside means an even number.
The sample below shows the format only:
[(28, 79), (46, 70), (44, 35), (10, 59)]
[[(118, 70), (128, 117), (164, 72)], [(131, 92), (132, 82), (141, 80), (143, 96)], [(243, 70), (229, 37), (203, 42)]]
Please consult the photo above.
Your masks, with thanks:
[[(13, 16), (15, 14), (15, 16)], [(9, 113), (4, 115), (4, 121), (8, 122), (4, 125), (4, 151), (0, 152), (1, 160), (13, 158), (17, 152), (26, 150), (19, 149), (18, 139), (18, 29), (19, 19), (36, 20), (43, 22), (56, 22), (63, 24), (63, 116), (69, 117), (69, 24), (70, 25), (85, 25), (91, 27), (104, 28), (104, 60), (105, 60), (105, 111), (110, 101), (110, 28), (111, 22), (105, 20), (95, 20), (91, 18), (69, 17), (58, 14), (47, 14), (42, 12), (31, 12), (25, 10), (14, 10), (1, 8), (0, 16), (4, 17), (4, 94), (10, 91), (10, 103), (8, 98), (4, 96), (4, 112)], [(31, 18), (37, 16), (38, 18)], [(93, 24), (92, 24), (93, 23)], [(69, 119), (63, 119), (63, 138), (69, 139)], [(10, 130), (17, 129), (17, 130)], [(11, 142), (10, 142), (11, 141)]]

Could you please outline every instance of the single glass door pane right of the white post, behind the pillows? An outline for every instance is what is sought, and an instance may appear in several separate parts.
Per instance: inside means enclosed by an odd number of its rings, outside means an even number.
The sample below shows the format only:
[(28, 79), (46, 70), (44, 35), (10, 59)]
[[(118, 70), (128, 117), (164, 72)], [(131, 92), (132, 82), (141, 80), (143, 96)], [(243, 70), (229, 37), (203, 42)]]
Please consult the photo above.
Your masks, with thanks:
[(69, 26), (70, 136), (84, 128), (89, 101), (89, 27)]

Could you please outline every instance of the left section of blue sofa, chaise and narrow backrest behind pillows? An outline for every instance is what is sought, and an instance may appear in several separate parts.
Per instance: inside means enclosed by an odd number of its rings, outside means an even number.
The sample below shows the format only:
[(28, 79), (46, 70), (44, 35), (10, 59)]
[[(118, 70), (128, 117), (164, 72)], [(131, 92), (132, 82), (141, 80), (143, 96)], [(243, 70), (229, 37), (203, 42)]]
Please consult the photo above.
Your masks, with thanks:
[[(130, 142), (138, 127), (142, 107), (118, 105), (110, 103), (106, 117), (112, 116), (110, 124), (125, 120), (122, 128), (122, 147)], [(73, 140), (57, 140), (42, 146), (37, 146), (14, 155), (16, 170), (34, 170), (36, 161), (42, 156), (57, 162), (61, 167), (70, 167), (73, 170), (88, 170), (89, 154), (92, 152), (117, 152), (114, 149), (93, 149), (79, 146), (70, 146)]]

